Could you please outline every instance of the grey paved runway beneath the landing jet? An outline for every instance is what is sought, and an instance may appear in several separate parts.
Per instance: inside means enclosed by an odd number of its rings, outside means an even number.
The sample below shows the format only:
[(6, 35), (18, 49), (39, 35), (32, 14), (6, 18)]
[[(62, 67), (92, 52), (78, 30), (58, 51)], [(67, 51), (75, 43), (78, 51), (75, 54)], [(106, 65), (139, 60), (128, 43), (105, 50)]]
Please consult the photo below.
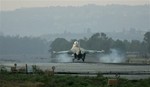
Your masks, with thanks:
[[(55, 72), (78, 72), (78, 73), (99, 73), (99, 72), (150, 72), (149, 64), (113, 64), (113, 63), (17, 63), (17, 67), (25, 66), (31, 68), (32, 65), (37, 65), (42, 70), (52, 70), (55, 67)], [(4, 63), (1, 65), (11, 67), (13, 63)], [(107, 75), (109, 76), (109, 75)], [(110, 75), (114, 76), (114, 75)], [(150, 78), (150, 75), (121, 75), (128, 79), (143, 79)]]

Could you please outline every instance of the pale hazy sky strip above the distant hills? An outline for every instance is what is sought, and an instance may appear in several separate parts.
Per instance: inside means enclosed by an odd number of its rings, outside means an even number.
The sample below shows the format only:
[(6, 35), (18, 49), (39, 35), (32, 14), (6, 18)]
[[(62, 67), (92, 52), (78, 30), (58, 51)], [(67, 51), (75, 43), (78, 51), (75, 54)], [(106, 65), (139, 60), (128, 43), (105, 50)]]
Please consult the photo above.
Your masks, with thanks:
[(150, 4), (150, 0), (0, 0), (0, 10), (49, 6), (81, 6), (86, 4), (143, 5)]

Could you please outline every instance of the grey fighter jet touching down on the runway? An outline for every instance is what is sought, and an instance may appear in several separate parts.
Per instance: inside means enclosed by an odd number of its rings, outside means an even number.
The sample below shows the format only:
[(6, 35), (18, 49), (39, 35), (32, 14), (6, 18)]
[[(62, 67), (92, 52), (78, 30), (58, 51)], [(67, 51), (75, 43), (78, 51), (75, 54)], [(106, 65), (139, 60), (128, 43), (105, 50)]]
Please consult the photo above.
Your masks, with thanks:
[(74, 58), (72, 59), (73, 62), (75, 59), (77, 60), (80, 60), (82, 59), (82, 61), (84, 62), (85, 60), (85, 56), (86, 54), (94, 54), (94, 53), (104, 53), (104, 50), (101, 50), (101, 51), (97, 51), (97, 50), (85, 50), (83, 48), (80, 47), (80, 44), (78, 41), (75, 41), (73, 43), (73, 46), (70, 50), (67, 50), (67, 51), (59, 51), (59, 52), (56, 52), (56, 51), (53, 51), (54, 54), (64, 54), (64, 53), (67, 53), (67, 54), (72, 54), (74, 56)]

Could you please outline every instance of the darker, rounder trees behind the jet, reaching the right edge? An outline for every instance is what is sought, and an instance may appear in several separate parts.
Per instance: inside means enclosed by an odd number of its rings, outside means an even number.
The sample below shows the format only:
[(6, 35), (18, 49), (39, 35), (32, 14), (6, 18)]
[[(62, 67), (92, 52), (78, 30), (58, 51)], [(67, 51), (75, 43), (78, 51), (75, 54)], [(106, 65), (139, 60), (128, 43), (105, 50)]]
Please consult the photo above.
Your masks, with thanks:
[[(67, 41), (64, 38), (56, 38), (50, 45), (51, 51), (69, 50), (76, 39)], [(110, 49), (117, 49), (122, 53), (138, 52), (141, 54), (150, 53), (150, 32), (144, 34), (143, 41), (139, 40), (113, 40), (105, 33), (95, 33), (90, 38), (83, 38), (78, 40), (80, 46), (84, 49), (90, 50), (105, 50), (110, 52)]]

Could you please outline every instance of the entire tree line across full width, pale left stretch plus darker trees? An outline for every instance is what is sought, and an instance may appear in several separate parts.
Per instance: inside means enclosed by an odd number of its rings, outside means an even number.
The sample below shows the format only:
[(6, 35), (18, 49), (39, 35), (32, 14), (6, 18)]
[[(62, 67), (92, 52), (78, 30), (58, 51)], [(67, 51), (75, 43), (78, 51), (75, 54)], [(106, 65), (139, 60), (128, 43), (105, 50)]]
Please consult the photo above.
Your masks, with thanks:
[[(0, 36), (0, 54), (44, 54), (52, 51), (69, 50), (73, 42), (64, 38), (56, 38), (52, 43), (38, 37)], [(144, 34), (143, 41), (113, 40), (105, 33), (95, 33), (91, 37), (78, 40), (80, 46), (90, 50), (117, 49), (121, 53), (139, 52), (150, 53), (150, 32)]]

